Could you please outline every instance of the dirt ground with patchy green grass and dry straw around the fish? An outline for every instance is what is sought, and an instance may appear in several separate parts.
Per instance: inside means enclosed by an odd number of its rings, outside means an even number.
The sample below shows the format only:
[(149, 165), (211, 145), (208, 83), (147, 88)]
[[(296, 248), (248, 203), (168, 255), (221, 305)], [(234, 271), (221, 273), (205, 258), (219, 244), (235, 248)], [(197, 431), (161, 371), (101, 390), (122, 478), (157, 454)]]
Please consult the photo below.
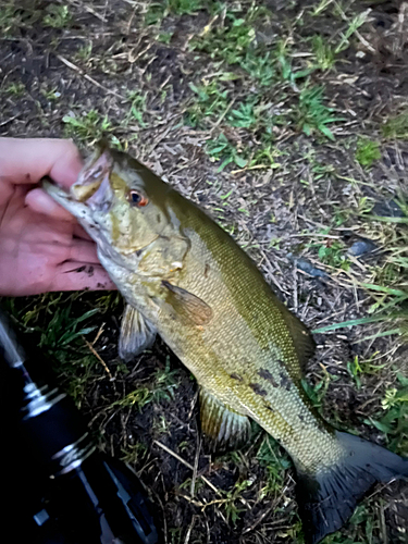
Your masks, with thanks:
[[(318, 410), (408, 456), (408, 326), (381, 319), (408, 299), (407, 3), (5, 0), (0, 97), (1, 135), (84, 154), (103, 136), (203, 207), (318, 331)], [(304, 542), (285, 452), (255, 426), (210, 455), (169, 348), (118, 358), (116, 293), (3, 304), (100, 448), (136, 469), (165, 543)], [(407, 528), (407, 483), (378, 485), (324, 543), (406, 543)]]

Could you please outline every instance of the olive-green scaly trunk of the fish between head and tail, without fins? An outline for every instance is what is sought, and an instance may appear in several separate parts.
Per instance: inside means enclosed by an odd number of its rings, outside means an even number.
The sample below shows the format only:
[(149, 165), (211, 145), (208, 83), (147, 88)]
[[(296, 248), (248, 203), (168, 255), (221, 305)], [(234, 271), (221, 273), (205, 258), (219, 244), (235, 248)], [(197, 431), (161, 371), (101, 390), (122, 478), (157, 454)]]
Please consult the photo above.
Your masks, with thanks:
[(165, 286), (151, 313), (146, 302), (139, 306), (139, 293), (127, 300), (157, 324), (160, 336), (200, 385), (255, 419), (305, 470), (332, 463), (342, 448), (311, 410), (301, 387), (299, 362), (283, 318), (287, 309), (230, 236), (205, 214), (199, 219), (198, 225), (183, 221), (181, 235), (190, 240), (190, 250), (176, 282), (212, 309), (209, 322), (180, 319), (166, 301)]

